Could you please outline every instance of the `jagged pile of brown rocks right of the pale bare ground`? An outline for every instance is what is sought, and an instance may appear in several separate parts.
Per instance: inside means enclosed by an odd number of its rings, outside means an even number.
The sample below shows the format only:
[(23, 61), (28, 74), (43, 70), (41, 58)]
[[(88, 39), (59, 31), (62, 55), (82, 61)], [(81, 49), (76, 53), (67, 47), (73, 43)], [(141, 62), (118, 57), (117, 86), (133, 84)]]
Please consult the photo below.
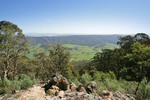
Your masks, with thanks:
[(86, 86), (69, 84), (62, 75), (55, 75), (44, 87), (47, 89), (46, 100), (135, 100), (121, 92), (103, 90), (96, 93), (98, 85), (93, 81)]

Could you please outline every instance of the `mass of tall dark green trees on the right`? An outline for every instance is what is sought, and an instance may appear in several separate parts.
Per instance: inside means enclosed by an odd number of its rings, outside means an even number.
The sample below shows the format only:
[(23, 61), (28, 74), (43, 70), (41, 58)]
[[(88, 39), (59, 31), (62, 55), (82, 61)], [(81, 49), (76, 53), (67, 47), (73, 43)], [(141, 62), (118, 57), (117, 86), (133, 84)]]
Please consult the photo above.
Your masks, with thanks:
[(93, 57), (91, 65), (98, 71), (114, 72), (117, 79), (138, 81), (150, 78), (150, 39), (144, 33), (120, 37), (120, 48), (105, 49)]

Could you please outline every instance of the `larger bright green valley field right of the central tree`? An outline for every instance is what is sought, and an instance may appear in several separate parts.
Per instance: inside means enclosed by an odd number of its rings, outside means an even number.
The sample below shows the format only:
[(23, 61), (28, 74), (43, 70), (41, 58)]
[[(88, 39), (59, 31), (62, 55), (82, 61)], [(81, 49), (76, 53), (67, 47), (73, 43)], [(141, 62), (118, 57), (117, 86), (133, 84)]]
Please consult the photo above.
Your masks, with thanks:
[(94, 57), (97, 52), (101, 52), (102, 49), (114, 49), (117, 48), (117, 45), (105, 43), (101, 45), (95, 46), (81, 46), (81, 45), (73, 45), (73, 44), (65, 44), (65, 47), (68, 48), (71, 59), (75, 61), (79, 60), (90, 60)]

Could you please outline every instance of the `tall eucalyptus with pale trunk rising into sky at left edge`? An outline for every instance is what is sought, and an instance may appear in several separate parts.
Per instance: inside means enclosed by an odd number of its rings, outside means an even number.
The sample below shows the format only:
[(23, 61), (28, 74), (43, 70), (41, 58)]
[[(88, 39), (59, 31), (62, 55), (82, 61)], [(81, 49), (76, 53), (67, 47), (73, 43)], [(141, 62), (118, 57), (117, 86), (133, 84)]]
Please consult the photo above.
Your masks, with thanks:
[[(8, 21), (0, 22), (0, 56), (3, 58), (1, 67), (2, 76), (7, 77), (10, 73), (16, 72), (17, 58), (19, 54), (27, 50), (26, 38), (22, 30), (15, 24)], [(10, 70), (10, 62), (13, 59), (13, 71)]]

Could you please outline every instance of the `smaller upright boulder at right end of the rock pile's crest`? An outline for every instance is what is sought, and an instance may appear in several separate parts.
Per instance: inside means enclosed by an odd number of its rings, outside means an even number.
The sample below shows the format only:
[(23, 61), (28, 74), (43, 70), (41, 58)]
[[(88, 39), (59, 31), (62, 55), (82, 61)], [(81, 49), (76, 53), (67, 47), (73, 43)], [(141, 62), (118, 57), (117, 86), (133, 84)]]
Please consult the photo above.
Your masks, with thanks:
[(87, 93), (95, 93), (95, 90), (98, 88), (96, 82), (92, 81), (86, 85), (85, 89)]

